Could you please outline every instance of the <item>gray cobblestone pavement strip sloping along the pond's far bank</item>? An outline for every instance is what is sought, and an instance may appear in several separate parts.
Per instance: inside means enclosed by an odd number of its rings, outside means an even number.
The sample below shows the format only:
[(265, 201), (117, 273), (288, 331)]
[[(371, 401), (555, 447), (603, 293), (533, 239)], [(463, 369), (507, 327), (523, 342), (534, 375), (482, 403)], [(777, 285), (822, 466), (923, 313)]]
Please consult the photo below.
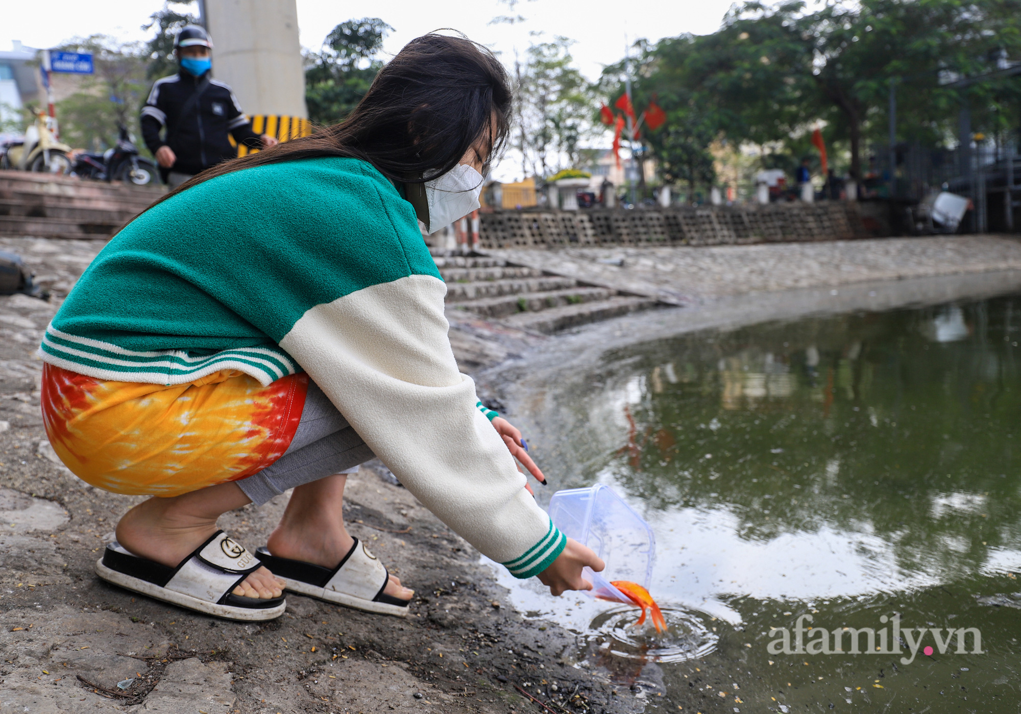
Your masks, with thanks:
[(1021, 242), (998, 236), (487, 254), (680, 305), (746, 293), (1021, 268)]

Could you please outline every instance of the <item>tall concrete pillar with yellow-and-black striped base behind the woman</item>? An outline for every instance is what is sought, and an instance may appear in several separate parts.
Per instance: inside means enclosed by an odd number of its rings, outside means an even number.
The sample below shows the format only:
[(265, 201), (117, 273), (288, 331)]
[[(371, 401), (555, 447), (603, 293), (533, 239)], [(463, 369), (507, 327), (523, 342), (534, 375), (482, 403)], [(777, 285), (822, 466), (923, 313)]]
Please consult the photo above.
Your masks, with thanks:
[[(290, 139), (307, 128), (305, 74), (295, 0), (203, 0), (212, 75), (234, 90), (259, 133)], [(256, 125), (255, 118), (262, 117)], [(307, 131), (307, 129), (306, 129)], [(279, 136), (289, 134), (290, 136)]]

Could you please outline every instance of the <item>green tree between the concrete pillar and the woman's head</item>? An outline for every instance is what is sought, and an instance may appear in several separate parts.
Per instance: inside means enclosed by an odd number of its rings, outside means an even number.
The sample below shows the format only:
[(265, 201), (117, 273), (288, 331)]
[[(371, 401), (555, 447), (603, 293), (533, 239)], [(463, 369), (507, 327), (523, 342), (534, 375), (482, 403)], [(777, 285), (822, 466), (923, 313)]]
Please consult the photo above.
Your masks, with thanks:
[(383, 66), (377, 55), (393, 28), (379, 17), (341, 22), (319, 52), (305, 54), (308, 117), (322, 124), (343, 121)]

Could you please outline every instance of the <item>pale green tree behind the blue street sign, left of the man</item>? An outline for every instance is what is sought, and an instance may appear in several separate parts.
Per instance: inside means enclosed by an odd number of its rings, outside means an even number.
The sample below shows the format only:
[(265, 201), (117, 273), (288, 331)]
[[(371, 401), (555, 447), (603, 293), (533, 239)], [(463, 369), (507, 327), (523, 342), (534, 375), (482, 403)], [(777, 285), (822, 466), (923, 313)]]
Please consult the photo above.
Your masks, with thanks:
[(83, 80), (80, 91), (57, 103), (61, 138), (71, 146), (99, 149), (113, 146), (118, 124), (137, 135), (138, 112), (148, 90), (142, 46), (93, 35), (57, 49), (91, 53), (95, 67), (95, 73)]

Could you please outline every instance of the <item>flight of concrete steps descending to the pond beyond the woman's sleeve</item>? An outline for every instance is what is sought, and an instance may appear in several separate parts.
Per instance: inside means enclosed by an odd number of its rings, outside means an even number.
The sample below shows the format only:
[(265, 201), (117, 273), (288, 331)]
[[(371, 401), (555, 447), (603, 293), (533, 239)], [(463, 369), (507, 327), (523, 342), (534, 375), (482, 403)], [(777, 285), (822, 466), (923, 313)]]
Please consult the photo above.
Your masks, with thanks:
[(447, 303), (533, 333), (555, 333), (659, 304), (650, 298), (583, 286), (573, 277), (552, 275), (501, 259), (440, 251), (433, 251), (433, 255), (447, 283)]

